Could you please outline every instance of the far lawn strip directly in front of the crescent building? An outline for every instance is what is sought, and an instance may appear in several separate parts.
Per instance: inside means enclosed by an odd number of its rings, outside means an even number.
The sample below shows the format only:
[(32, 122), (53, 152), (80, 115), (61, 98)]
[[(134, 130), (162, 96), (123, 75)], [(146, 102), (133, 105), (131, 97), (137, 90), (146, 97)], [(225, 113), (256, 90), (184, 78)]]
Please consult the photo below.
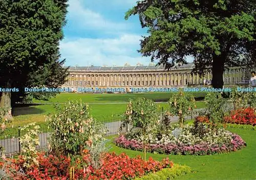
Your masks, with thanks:
[[(66, 102), (68, 99), (79, 100), (83, 102), (127, 102), (130, 98), (145, 97), (154, 101), (168, 101), (170, 95), (174, 92), (157, 92), (157, 93), (127, 93), (127, 94), (90, 94), (90, 93), (60, 93), (55, 98), (45, 100), (34, 99), (34, 103), (38, 102)], [(193, 92), (195, 97), (203, 98), (204, 92)]]

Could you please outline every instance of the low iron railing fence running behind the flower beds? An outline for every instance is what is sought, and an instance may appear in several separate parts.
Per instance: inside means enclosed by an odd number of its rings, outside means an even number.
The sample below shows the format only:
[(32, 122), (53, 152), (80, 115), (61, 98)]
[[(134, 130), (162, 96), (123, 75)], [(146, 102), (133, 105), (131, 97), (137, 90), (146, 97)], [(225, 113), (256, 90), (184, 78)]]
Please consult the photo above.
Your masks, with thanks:
[[(233, 105), (230, 104), (230, 102), (227, 102), (227, 105), (225, 105), (225, 111), (228, 112), (230, 110), (233, 110)], [(188, 115), (185, 116), (185, 121), (187, 120), (193, 120), (198, 115), (199, 112), (202, 109), (194, 110), (189, 112)], [(158, 111), (159, 114), (159, 120), (163, 120), (165, 118), (165, 109), (162, 108)], [(172, 123), (179, 122), (178, 116), (168, 116), (169, 121)], [(122, 128), (122, 131), (120, 131), (120, 126), (122, 124), (122, 116), (120, 115), (111, 115), (111, 116), (98, 116), (95, 118), (96, 120), (102, 122), (105, 124), (105, 127), (107, 128), (108, 132), (106, 133), (106, 136), (112, 136), (112, 135), (118, 135), (119, 133), (125, 133), (129, 131), (132, 127), (132, 125), (129, 125), (128, 128), (124, 127)], [(36, 148), (38, 150), (46, 150), (48, 148), (48, 142), (51, 130), (46, 125), (40, 125), (40, 131), (42, 133), (39, 134), (39, 141), (40, 145), (38, 145)], [(22, 137), (24, 133), (20, 131), (17, 128), (9, 128), (5, 131), (5, 134), (0, 136), (0, 147), (5, 148), (5, 155), (7, 157), (17, 155), (20, 153), (22, 147), (19, 143), (19, 138)]]

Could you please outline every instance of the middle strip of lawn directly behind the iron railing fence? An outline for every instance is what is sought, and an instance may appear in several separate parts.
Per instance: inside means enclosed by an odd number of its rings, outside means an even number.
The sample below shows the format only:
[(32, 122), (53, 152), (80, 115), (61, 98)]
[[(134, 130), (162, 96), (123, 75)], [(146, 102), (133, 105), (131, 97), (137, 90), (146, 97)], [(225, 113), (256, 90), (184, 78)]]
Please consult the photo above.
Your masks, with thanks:
[[(204, 101), (196, 101), (197, 108), (205, 107)], [(89, 104), (90, 114), (98, 121), (112, 122), (121, 120), (121, 114), (126, 110), (127, 104)], [(158, 111), (162, 112), (168, 110), (168, 104), (165, 102), (158, 103)], [(18, 126), (24, 126), (31, 122), (36, 122), (42, 126), (41, 131), (47, 131), (46, 129), (46, 115), (54, 114), (54, 105), (35, 105), (28, 107), (14, 107), (13, 108), (13, 123), (7, 126), (7, 134), (16, 134)], [(12, 124), (13, 127), (12, 128)]]

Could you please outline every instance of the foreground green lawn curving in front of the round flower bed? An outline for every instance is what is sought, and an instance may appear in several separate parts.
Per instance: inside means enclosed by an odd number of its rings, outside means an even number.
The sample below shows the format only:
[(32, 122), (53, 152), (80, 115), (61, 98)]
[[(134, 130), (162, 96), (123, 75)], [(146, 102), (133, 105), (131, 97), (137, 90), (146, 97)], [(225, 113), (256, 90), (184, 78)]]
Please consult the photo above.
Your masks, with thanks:
[[(174, 163), (187, 165), (194, 171), (175, 179), (189, 180), (233, 180), (233, 179), (256, 179), (256, 131), (229, 129), (239, 134), (247, 143), (247, 146), (240, 151), (230, 152), (221, 155), (211, 156), (178, 156), (178, 155), (156, 155), (147, 153), (147, 158), (152, 157), (156, 160), (169, 157)], [(116, 153), (125, 152), (130, 157), (137, 155), (143, 156), (142, 152), (122, 149), (109, 142), (110, 151)]]

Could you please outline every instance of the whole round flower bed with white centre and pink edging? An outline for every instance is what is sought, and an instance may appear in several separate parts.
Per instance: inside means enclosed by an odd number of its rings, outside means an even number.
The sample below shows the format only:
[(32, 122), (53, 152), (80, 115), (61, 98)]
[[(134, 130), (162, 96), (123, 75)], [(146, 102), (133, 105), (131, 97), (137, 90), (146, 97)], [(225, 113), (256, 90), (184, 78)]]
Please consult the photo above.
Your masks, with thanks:
[[(114, 140), (117, 146), (143, 150), (143, 139), (139, 130), (132, 130), (126, 135), (120, 135)], [(212, 155), (236, 151), (246, 146), (244, 140), (236, 134), (223, 128), (217, 128), (214, 133), (204, 125), (184, 126), (183, 131), (178, 126), (161, 128), (156, 126), (147, 136), (146, 149), (152, 153), (167, 155)]]

